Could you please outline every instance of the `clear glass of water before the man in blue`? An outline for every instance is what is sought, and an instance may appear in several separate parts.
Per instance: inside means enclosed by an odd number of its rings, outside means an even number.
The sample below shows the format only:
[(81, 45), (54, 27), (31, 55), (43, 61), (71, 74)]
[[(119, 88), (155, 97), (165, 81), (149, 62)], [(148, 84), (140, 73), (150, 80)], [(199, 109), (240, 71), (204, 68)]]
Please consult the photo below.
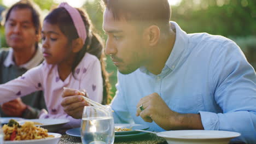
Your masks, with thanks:
[(114, 120), (110, 106), (85, 106), (81, 122), (81, 139), (84, 144), (113, 144)]

